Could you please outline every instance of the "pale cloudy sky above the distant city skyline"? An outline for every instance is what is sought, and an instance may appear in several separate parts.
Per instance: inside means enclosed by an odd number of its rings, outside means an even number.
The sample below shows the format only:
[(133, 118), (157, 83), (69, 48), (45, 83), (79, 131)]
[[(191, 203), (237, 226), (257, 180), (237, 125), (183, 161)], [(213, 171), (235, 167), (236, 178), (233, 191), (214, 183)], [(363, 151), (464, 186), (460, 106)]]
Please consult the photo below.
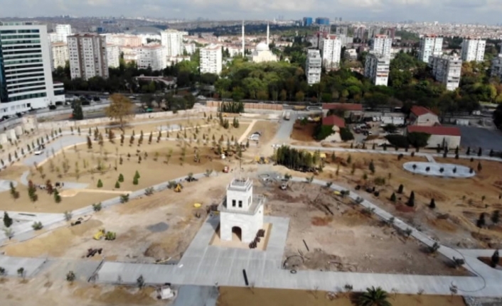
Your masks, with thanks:
[(342, 17), (344, 21), (502, 23), (502, 0), (0, 0), (0, 17), (150, 16), (210, 20)]

